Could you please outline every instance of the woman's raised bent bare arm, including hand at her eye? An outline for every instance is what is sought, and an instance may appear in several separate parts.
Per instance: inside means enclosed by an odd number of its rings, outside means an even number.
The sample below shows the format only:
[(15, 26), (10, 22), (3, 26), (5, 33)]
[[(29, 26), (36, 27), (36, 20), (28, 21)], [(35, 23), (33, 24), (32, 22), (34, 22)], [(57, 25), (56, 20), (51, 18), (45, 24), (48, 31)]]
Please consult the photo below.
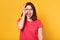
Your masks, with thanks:
[(25, 15), (27, 14), (25, 6), (22, 7), (22, 12), (23, 12), (22, 18), (17, 23), (18, 29), (23, 29), (23, 26), (24, 26)]

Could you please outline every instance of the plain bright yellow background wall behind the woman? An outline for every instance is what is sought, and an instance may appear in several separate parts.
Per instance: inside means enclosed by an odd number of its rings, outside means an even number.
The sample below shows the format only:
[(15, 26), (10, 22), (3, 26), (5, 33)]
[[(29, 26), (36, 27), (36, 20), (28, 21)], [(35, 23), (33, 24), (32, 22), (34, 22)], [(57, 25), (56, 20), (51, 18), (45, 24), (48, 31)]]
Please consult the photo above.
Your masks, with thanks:
[(44, 40), (60, 40), (60, 0), (0, 0), (0, 40), (19, 40), (17, 20), (26, 2), (36, 7)]

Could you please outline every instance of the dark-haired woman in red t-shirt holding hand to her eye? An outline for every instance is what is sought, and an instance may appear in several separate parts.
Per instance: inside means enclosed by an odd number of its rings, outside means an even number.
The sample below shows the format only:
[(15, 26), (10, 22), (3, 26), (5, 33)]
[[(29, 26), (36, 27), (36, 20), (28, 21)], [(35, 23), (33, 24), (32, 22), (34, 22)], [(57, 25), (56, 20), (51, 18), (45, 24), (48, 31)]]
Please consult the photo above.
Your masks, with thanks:
[(18, 20), (20, 40), (43, 40), (42, 23), (37, 19), (36, 10), (31, 2), (22, 8), (22, 17)]

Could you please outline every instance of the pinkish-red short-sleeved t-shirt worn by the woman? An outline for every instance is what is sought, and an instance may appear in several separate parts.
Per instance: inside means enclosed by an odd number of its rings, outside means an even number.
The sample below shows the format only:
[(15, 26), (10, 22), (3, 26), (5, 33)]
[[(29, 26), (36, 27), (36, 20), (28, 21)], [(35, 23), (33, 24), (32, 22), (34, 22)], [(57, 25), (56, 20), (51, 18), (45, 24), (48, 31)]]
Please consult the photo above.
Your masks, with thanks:
[(20, 40), (38, 40), (38, 28), (42, 27), (43, 24), (38, 19), (31, 22), (25, 21), (24, 28), (20, 31)]

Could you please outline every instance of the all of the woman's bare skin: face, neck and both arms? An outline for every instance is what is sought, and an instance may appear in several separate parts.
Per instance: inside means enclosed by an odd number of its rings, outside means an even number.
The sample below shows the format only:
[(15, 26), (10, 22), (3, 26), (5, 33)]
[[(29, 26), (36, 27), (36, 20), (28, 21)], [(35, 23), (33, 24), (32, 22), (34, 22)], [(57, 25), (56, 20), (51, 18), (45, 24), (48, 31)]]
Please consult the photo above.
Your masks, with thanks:
[[(32, 19), (32, 15), (33, 15), (33, 9), (30, 5), (27, 5), (26, 8), (25, 6), (22, 7), (22, 12), (23, 12), (23, 16), (21, 18), (21, 20), (18, 22), (18, 29), (23, 29), (23, 26), (24, 26), (24, 20), (25, 20), (25, 16), (27, 17), (27, 21), (31, 22)], [(38, 29), (38, 39), (39, 40), (43, 40), (43, 37), (42, 37), (42, 28), (39, 28)]]

